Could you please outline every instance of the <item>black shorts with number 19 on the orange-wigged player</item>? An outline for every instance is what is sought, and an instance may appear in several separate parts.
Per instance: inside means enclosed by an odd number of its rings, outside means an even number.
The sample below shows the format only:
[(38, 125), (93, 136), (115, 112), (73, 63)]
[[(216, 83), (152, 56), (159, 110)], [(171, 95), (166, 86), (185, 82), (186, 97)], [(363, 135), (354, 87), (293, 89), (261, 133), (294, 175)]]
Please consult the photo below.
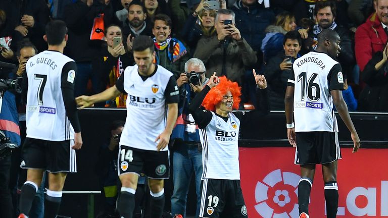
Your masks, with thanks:
[(200, 217), (248, 217), (239, 180), (203, 179)]

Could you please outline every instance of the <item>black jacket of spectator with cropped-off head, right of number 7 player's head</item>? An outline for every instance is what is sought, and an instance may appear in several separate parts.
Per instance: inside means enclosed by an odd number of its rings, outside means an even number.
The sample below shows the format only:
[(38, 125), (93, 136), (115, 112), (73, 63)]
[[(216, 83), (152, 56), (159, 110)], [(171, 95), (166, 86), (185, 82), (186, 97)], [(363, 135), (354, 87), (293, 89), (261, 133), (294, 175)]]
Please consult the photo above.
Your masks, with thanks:
[(68, 28), (69, 40), (65, 48), (65, 55), (76, 62), (90, 62), (98, 53), (102, 40), (90, 40), (90, 32), (96, 16), (104, 13), (104, 25), (116, 23), (112, 5), (105, 6), (94, 1), (91, 7), (77, 1), (65, 8), (64, 21)]

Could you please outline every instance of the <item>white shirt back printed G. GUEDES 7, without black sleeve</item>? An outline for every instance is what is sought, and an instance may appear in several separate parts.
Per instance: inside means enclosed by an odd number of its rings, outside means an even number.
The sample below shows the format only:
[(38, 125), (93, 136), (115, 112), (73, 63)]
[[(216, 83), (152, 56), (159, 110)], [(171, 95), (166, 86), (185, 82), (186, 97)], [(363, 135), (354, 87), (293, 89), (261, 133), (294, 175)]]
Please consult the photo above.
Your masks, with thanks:
[[(50, 50), (28, 60), (28, 138), (50, 141), (74, 139), (74, 129), (66, 116), (61, 90), (62, 69), (69, 62), (74, 61), (61, 52)], [(74, 81), (75, 72), (69, 71), (65, 76), (68, 81)]]

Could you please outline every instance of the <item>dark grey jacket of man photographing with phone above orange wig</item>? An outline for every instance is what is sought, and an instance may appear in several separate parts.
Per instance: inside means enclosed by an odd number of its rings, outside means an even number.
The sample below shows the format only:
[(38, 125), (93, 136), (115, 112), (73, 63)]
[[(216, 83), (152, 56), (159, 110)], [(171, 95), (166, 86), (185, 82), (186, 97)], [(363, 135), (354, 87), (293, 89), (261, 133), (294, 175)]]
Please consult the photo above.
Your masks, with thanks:
[(257, 61), (255, 51), (244, 37), (238, 41), (232, 39), (225, 48), (223, 42), (218, 40), (217, 34), (211, 37), (202, 36), (193, 57), (204, 62), (207, 78), (216, 72), (217, 76), (225, 75), (239, 84), (245, 68), (254, 66)]

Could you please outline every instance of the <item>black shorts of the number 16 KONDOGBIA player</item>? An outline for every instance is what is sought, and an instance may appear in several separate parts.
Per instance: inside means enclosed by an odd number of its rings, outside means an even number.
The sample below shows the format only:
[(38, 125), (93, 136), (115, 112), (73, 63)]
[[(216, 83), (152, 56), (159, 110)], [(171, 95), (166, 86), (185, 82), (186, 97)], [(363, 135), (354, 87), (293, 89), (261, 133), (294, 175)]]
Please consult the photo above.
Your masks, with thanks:
[(330, 163), (341, 159), (337, 132), (297, 132), (295, 164)]

